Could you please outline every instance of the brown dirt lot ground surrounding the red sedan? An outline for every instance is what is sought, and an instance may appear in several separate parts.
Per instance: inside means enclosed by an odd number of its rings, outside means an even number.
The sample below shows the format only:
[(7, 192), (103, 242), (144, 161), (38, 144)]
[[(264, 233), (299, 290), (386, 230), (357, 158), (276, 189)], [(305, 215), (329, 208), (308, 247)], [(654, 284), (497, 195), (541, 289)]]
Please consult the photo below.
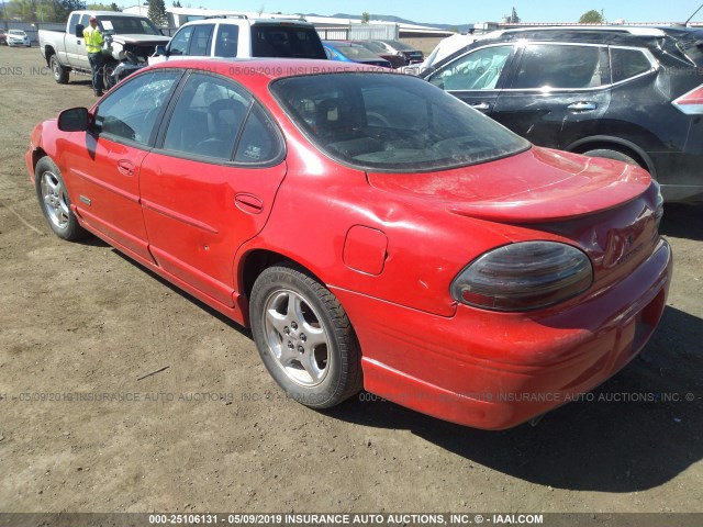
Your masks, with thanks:
[(0, 511), (703, 512), (703, 208), (667, 208), (662, 324), (593, 401), (503, 433), (380, 401), (314, 412), (246, 330), (51, 234), (29, 133), (94, 98), (43, 66), (0, 48)]

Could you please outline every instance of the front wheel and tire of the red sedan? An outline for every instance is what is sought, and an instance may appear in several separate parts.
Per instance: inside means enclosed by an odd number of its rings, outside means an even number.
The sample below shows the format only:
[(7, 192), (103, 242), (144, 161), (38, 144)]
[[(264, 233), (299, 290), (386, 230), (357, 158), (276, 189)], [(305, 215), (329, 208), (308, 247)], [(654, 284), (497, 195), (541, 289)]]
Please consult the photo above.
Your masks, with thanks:
[(49, 157), (43, 157), (36, 164), (34, 184), (42, 213), (54, 234), (68, 240), (81, 238), (86, 231), (78, 224), (76, 214), (70, 210), (66, 183), (60, 170)]

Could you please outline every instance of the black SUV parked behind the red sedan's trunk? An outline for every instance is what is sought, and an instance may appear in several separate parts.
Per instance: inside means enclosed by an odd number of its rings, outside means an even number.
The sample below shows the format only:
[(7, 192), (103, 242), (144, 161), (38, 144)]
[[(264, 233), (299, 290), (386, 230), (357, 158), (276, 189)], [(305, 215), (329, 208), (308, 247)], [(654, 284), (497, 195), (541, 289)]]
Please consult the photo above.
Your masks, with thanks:
[(667, 201), (703, 198), (703, 30), (502, 31), (422, 75), (536, 145), (638, 165)]

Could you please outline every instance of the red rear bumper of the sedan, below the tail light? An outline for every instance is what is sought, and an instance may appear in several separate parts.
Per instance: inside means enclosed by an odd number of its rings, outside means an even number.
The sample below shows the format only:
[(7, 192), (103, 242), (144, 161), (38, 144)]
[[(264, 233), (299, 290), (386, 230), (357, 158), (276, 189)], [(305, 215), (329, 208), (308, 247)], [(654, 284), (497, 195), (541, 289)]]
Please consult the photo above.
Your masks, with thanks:
[(459, 305), (450, 318), (334, 289), (359, 337), (365, 388), (442, 419), (518, 425), (601, 384), (647, 343), (666, 305), (669, 245), (627, 279), (563, 312)]

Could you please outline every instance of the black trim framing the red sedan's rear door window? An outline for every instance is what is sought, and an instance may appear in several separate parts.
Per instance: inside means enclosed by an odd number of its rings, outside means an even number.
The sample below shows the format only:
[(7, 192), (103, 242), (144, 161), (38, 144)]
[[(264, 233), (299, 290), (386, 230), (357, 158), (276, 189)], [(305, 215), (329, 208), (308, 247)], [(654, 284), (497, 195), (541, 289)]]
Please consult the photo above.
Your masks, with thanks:
[[(167, 69), (174, 69), (174, 68), (167, 68)], [(183, 71), (183, 74), (185, 75), (181, 77), (180, 81), (178, 82), (178, 86), (176, 87), (176, 90), (170, 97), (169, 103), (165, 105), (167, 106), (166, 111), (159, 115), (160, 121), (156, 128), (157, 130), (156, 138), (153, 144), (154, 146), (150, 148), (149, 152), (153, 152), (155, 154), (159, 154), (163, 156), (175, 157), (178, 159), (186, 159), (190, 161), (207, 162), (210, 165), (219, 165), (219, 166), (226, 166), (226, 167), (233, 167), (233, 168), (252, 168), (252, 169), (276, 167), (280, 165), (288, 157), (288, 145), (286, 143), (283, 133), (280, 130), (280, 126), (278, 125), (276, 120), (271, 116), (270, 112), (266, 109), (266, 106), (261, 104), (259, 100), (254, 96), (254, 93), (252, 93), (243, 85), (241, 85), (233, 78), (227, 77), (225, 75), (216, 74), (214, 71), (209, 71), (205, 69), (188, 69)], [(230, 153), (230, 159), (200, 156), (197, 154), (188, 154), (185, 152), (177, 152), (177, 150), (164, 148), (164, 141), (166, 139), (166, 132), (168, 131), (168, 125), (170, 124), (171, 117), (174, 116), (174, 112), (176, 111), (176, 106), (178, 104), (178, 101), (180, 100), (180, 96), (186, 87), (186, 83), (188, 82), (188, 79), (190, 79), (190, 77), (193, 75), (205, 75), (205, 76), (211, 76), (211, 77), (222, 79), (226, 82), (234, 85), (237, 91), (248, 96), (250, 99), (249, 105), (247, 106), (246, 113), (244, 114), (244, 119), (242, 121), (242, 126), (239, 126), (239, 130), (237, 131), (237, 136), (234, 141), (234, 146), (232, 147), (232, 152)], [(278, 156), (269, 160), (260, 161), (260, 162), (235, 161), (234, 156), (236, 155), (237, 148), (239, 146), (239, 139), (244, 134), (244, 128), (247, 125), (247, 122), (249, 120), (249, 115), (253, 112), (254, 105), (257, 105), (259, 110), (261, 110), (261, 113), (265, 115), (265, 117), (274, 124), (274, 134), (271, 138), (278, 143), (279, 154)]]

